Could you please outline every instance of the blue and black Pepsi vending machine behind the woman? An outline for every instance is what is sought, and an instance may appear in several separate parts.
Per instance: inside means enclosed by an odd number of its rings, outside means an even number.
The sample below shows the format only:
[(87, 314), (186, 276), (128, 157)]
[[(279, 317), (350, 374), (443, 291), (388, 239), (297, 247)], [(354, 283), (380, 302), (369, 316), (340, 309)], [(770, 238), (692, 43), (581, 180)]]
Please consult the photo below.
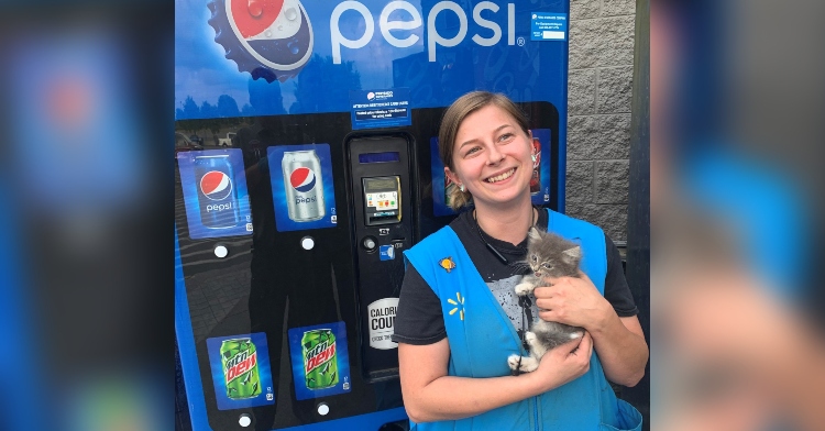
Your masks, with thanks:
[(176, 134), (193, 139), (175, 147), (175, 325), (193, 429), (403, 423), (402, 252), (455, 217), (441, 115), (479, 89), (519, 103), (534, 202), (563, 211), (569, 1), (176, 9)]

